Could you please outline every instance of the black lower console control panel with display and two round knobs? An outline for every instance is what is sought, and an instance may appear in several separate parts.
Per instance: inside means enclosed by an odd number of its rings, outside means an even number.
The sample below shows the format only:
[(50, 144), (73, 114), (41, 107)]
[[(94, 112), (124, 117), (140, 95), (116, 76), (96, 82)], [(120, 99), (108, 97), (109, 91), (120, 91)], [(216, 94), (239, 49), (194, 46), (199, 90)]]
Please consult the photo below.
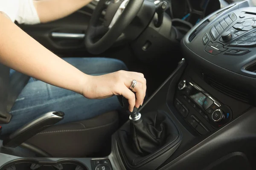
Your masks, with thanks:
[[(177, 89), (174, 105), (183, 119), (195, 130), (198, 125), (203, 127), (204, 133), (198, 133), (205, 134), (213, 131), (232, 118), (232, 111), (227, 105), (219, 102), (194, 82), (183, 79), (179, 82)], [(206, 121), (202, 121), (202, 118)], [(207, 128), (207, 126), (212, 128)]]

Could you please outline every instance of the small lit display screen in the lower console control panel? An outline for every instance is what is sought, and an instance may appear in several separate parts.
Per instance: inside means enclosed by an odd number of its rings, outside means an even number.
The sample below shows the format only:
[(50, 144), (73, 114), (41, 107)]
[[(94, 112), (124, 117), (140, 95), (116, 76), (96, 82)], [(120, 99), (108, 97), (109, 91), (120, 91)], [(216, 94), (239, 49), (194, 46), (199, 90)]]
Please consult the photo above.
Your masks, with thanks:
[(203, 94), (201, 91), (198, 91), (195, 88), (193, 88), (189, 96), (204, 110), (208, 109), (214, 103), (212, 99), (210, 99), (207, 95)]

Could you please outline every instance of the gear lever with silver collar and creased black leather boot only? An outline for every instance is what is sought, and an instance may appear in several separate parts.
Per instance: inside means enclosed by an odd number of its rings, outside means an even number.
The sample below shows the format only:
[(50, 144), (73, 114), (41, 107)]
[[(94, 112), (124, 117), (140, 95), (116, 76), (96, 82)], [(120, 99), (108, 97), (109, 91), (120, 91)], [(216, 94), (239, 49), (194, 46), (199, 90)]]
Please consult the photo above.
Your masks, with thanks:
[(166, 139), (167, 128), (163, 125), (166, 117), (158, 113), (147, 113), (142, 117), (137, 108), (133, 112), (128, 111), (128, 100), (123, 96), (117, 96), (119, 103), (130, 114), (130, 139), (135, 153), (145, 156), (162, 146)]

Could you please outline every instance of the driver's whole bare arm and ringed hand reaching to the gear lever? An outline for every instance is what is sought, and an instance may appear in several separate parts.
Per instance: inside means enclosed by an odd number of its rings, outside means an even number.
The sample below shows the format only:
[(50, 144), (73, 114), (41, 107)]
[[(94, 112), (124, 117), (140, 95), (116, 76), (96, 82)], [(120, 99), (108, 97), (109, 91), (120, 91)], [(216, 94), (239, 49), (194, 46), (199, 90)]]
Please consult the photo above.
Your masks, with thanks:
[[(22, 31), (0, 12), (0, 62), (8, 67), (40, 79), (51, 85), (66, 88), (90, 99), (123, 95), (132, 111), (145, 97), (146, 82), (143, 74), (118, 71), (102, 76), (89, 76), (79, 71)], [(133, 79), (135, 95), (128, 89)]]

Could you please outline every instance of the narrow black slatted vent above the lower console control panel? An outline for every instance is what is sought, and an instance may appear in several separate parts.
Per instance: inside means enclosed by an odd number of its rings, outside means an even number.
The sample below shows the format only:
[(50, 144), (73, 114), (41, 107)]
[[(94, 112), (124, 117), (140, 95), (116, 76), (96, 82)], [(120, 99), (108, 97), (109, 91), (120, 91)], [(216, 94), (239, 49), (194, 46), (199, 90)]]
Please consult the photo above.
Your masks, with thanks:
[(223, 83), (217, 81), (215, 78), (209, 77), (207, 75), (205, 75), (204, 80), (210, 86), (220, 91), (221, 93), (226, 94), (227, 96), (230, 96), (234, 99), (240, 100), (245, 103), (250, 102), (250, 95), (245, 91), (241, 91), (241, 90), (238, 90), (237, 88), (224, 85)]

